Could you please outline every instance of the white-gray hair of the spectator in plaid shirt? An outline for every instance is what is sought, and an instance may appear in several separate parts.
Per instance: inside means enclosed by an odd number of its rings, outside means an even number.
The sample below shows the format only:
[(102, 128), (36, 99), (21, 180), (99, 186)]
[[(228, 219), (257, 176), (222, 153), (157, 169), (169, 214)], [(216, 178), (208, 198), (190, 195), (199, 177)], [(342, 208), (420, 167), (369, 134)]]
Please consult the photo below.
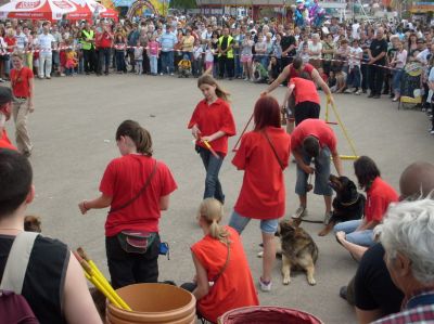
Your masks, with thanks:
[(432, 195), (416, 202), (391, 204), (383, 224), (374, 230), (394, 259), (399, 252), (411, 260), (414, 278), (424, 285), (434, 283), (434, 199)]

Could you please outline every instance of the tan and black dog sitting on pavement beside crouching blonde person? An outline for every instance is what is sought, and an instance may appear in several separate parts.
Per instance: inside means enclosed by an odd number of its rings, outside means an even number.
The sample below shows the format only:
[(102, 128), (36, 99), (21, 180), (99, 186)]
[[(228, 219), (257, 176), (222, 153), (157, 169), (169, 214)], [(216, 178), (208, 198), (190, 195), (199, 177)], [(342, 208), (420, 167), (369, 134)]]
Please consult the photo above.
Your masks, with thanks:
[(282, 249), (283, 284), (291, 282), (291, 269), (306, 271), (309, 285), (316, 285), (315, 262), (318, 259), (318, 246), (302, 228), (294, 228), (290, 221), (280, 222), (280, 243)]

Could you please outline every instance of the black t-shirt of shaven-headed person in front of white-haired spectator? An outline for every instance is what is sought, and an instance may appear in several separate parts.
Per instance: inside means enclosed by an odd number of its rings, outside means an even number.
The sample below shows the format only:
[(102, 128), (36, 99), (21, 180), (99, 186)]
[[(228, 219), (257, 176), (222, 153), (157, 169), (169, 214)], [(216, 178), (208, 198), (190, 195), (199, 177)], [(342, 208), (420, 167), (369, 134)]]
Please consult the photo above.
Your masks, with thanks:
[(378, 243), (360, 260), (355, 280), (356, 307), (381, 309), (384, 315), (400, 311), (403, 293), (394, 285), (383, 260), (384, 248)]

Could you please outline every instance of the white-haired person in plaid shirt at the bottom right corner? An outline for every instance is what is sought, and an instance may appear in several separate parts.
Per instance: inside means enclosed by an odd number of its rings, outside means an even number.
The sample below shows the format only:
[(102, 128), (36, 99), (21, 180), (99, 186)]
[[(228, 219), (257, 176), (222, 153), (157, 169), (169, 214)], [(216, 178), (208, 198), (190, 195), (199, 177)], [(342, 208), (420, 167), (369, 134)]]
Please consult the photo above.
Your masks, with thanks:
[(391, 207), (375, 229), (392, 281), (404, 293), (401, 311), (374, 324), (434, 321), (434, 200), (426, 197)]

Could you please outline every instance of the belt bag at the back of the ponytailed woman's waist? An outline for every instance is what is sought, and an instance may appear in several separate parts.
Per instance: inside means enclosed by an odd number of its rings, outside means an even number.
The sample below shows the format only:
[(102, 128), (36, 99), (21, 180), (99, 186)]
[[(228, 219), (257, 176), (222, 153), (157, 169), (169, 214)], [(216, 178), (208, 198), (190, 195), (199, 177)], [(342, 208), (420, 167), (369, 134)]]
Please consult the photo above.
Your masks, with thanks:
[(154, 243), (156, 233), (125, 230), (117, 234), (120, 247), (128, 254), (145, 254)]

